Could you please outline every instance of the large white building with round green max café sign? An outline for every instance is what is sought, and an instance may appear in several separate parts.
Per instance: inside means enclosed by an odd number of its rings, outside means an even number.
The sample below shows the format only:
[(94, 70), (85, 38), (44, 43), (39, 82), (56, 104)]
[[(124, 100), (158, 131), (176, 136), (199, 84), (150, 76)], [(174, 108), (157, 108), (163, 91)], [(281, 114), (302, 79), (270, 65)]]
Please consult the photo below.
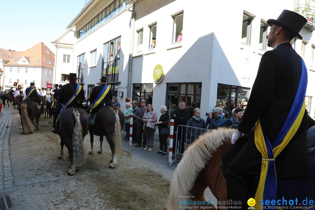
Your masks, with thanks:
[(293, 40), (292, 46), (308, 68), (306, 108), (314, 118), (312, 4), (90, 0), (68, 26), (76, 28), (73, 72), (86, 93), (108, 76), (122, 106), (130, 97), (145, 99), (156, 110), (185, 101), (200, 107), (202, 117), (216, 103), (231, 111), (249, 98), (261, 56), (271, 50), (266, 21), (277, 19), (283, 9), (296, 10), (308, 19), (303, 40)]

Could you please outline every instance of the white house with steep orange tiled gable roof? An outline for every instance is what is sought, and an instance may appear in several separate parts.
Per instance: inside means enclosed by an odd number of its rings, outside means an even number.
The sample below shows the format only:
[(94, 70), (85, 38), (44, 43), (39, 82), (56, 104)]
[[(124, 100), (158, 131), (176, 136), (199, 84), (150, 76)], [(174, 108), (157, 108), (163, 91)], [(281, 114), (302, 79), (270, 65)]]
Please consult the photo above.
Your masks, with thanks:
[(42, 42), (19, 54), (12, 53), (12, 58), (3, 64), (4, 89), (9, 89), (14, 82), (22, 89), (35, 82), (37, 88), (46, 88), (53, 82), (55, 54)]

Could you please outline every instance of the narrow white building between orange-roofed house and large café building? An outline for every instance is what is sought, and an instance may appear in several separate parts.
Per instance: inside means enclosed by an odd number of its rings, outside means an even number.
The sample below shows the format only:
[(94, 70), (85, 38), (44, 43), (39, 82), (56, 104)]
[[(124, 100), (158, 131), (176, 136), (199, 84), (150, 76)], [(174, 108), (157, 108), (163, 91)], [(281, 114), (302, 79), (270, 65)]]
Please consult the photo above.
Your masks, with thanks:
[(51, 42), (56, 47), (53, 88), (54, 84), (68, 83), (69, 73), (75, 73), (73, 69), (74, 34), (75, 28), (65, 30)]

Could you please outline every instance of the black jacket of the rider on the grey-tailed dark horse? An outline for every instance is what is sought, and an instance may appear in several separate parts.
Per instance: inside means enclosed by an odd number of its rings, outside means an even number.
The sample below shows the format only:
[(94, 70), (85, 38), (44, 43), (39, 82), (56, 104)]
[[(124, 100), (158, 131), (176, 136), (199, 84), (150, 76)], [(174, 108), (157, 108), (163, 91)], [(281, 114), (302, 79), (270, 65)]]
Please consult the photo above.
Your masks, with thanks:
[[(63, 105), (66, 105), (67, 101), (71, 99), (74, 92), (76, 91), (77, 85), (78, 84), (74, 81), (71, 81), (70, 83), (63, 85), (58, 95), (58, 103), (62, 103)], [(85, 99), (85, 96), (84, 96), (84, 91), (82, 87), (81, 91), (77, 94), (77, 96), (73, 99), (73, 101), (67, 107), (78, 108), (80, 107), (79, 104), (82, 103), (84, 99)]]

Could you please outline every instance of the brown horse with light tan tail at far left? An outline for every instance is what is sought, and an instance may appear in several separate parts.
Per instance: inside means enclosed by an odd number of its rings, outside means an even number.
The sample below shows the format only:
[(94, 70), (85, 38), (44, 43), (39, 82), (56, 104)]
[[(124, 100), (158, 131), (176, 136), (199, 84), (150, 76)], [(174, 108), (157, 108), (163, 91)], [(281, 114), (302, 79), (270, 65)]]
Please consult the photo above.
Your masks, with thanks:
[(33, 133), (34, 126), (32, 122), (36, 119), (36, 129), (38, 128), (39, 118), (41, 116), (41, 109), (37, 107), (37, 103), (32, 100), (23, 100), (20, 103), (19, 113), (21, 116), (22, 134)]

